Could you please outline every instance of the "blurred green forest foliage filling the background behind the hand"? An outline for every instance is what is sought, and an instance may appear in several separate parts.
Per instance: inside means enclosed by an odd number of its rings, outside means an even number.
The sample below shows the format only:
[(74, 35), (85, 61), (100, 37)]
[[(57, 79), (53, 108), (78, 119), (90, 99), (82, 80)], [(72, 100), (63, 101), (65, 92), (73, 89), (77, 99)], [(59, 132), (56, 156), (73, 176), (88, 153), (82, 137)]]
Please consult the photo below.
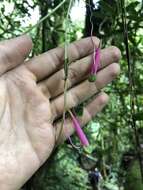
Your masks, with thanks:
[[(74, 0), (74, 3), (78, 0)], [(0, 1), (0, 39), (8, 39), (23, 34), (35, 20), (32, 15), (36, 13), (36, 20), (44, 17), (60, 0), (1, 0)], [(79, 1), (80, 3), (81, 1)], [(128, 171), (134, 170), (139, 176), (140, 170), (136, 163), (137, 153), (134, 131), (130, 126), (130, 88), (128, 80), (128, 67), (123, 38), (123, 23), (121, 19), (121, 5), (118, 0), (100, 0), (94, 7), (93, 23), (94, 34), (102, 39), (102, 46), (116, 45), (121, 49), (121, 74), (116, 81), (104, 90), (110, 96), (106, 109), (98, 114), (85, 128), (90, 141), (87, 149), (73, 150), (66, 142), (61, 145), (45, 165), (25, 185), (27, 190), (87, 190), (92, 189), (88, 181), (88, 172), (98, 167), (103, 175), (100, 184), (102, 190), (140, 190), (128, 186), (127, 183), (134, 177), (127, 178)], [(74, 6), (73, 3), (73, 6)], [(89, 3), (89, 1), (87, 1)], [(30, 35), (33, 39), (33, 50), (30, 56), (38, 55), (58, 45), (64, 44), (64, 23), (68, 1), (40, 26), (34, 28)], [(137, 130), (140, 135), (140, 144), (143, 139), (143, 2), (137, 0), (126, 1), (127, 26), (131, 67), (133, 78), (133, 91), (135, 100), (135, 115)], [(75, 13), (77, 14), (77, 13)], [(78, 16), (78, 15), (77, 15)], [(89, 6), (86, 6), (85, 23), (70, 21), (70, 41), (76, 40), (79, 34), (89, 36), (91, 23), (89, 22)], [(42, 65), (41, 65), (42, 66)], [(90, 101), (90, 100), (89, 100)], [(73, 137), (78, 144), (78, 139)], [(127, 156), (124, 165), (124, 154)], [(130, 162), (132, 160), (132, 162)], [(135, 161), (135, 162), (133, 162)], [(128, 164), (130, 163), (130, 164)], [(135, 167), (135, 169), (132, 169)], [(133, 172), (132, 172), (133, 173)]]

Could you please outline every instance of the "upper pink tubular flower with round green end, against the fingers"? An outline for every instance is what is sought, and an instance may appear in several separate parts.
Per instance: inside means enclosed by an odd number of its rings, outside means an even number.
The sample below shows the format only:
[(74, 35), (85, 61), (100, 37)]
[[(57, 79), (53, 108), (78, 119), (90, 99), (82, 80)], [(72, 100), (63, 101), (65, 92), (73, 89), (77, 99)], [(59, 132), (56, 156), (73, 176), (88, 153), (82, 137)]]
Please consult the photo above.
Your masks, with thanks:
[(89, 81), (94, 82), (96, 80), (96, 73), (100, 67), (100, 48), (98, 47), (95, 51), (95, 55), (93, 57), (93, 62), (90, 68), (90, 76)]

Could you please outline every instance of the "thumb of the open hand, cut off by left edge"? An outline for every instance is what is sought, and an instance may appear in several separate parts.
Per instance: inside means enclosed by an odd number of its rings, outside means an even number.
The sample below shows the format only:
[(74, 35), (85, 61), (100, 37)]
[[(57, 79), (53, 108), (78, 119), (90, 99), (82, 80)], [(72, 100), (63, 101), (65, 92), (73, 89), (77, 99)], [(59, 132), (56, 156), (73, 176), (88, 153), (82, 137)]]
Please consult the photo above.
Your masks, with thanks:
[(23, 63), (31, 49), (32, 41), (27, 35), (0, 42), (0, 75)]

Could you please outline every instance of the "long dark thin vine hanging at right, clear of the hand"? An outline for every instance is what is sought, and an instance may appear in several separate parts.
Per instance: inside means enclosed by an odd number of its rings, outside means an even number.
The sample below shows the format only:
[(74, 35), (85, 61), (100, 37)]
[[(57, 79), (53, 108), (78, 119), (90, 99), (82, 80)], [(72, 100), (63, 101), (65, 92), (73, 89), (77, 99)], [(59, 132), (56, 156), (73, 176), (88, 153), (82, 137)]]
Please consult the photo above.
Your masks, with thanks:
[(122, 22), (123, 22), (123, 30), (124, 30), (124, 43), (126, 48), (126, 59), (128, 63), (128, 78), (129, 78), (129, 92), (130, 92), (130, 125), (134, 131), (135, 136), (135, 142), (136, 142), (136, 151), (138, 155), (138, 160), (140, 164), (140, 171), (142, 176), (142, 182), (143, 182), (143, 163), (142, 163), (142, 153), (141, 153), (141, 147), (140, 147), (140, 137), (136, 125), (135, 115), (135, 89), (134, 89), (134, 80), (132, 76), (134, 76), (134, 69), (131, 64), (131, 58), (130, 58), (130, 48), (129, 48), (129, 38), (128, 38), (128, 26), (127, 26), (127, 14), (126, 14), (126, 5), (125, 0), (120, 0), (120, 7), (121, 7), (121, 13), (122, 13)]

